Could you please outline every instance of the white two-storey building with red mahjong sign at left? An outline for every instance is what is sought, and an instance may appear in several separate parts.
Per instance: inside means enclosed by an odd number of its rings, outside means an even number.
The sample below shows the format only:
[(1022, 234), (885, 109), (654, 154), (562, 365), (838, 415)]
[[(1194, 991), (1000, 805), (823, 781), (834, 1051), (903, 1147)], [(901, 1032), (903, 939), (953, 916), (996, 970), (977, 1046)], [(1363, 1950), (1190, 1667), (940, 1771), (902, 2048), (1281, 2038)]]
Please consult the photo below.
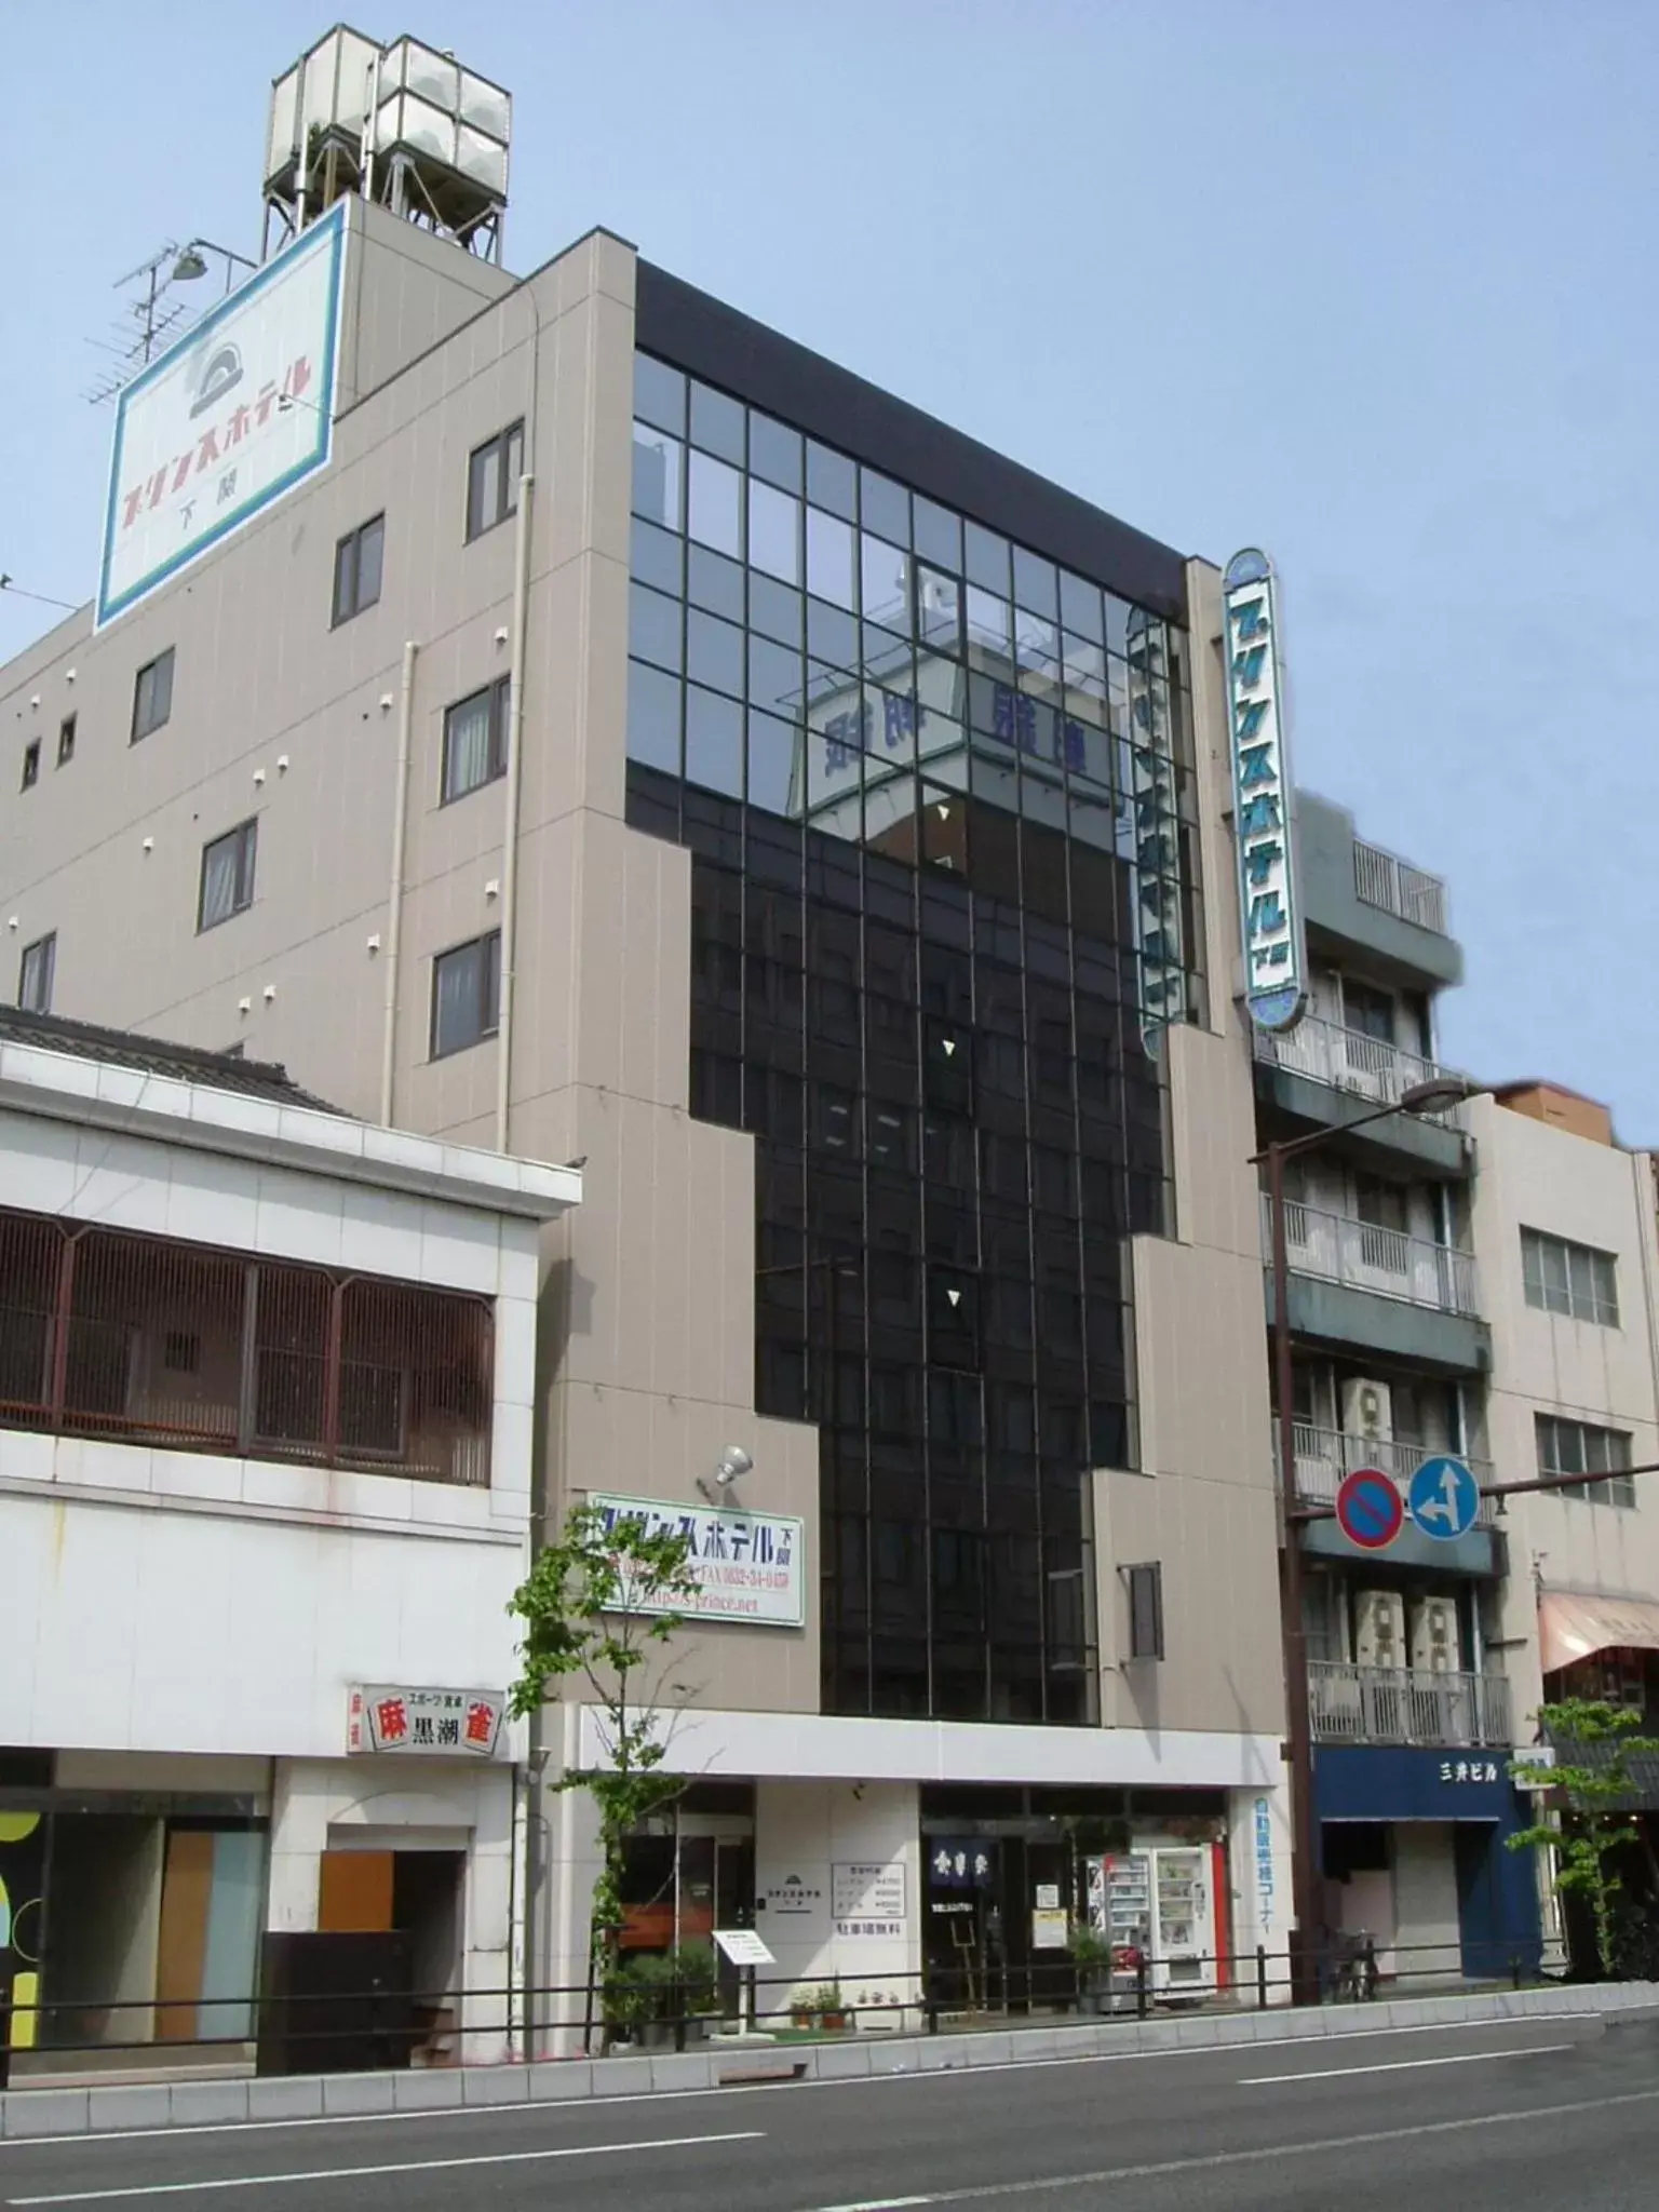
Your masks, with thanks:
[(403, 1980), (422, 2033), (502, 2053), (504, 1608), (538, 1241), (577, 1199), (274, 1066), (0, 1013), (18, 2070), (234, 2059), (261, 1947), (263, 1986), (303, 1991), (310, 1931), (363, 1938), (327, 1986)]

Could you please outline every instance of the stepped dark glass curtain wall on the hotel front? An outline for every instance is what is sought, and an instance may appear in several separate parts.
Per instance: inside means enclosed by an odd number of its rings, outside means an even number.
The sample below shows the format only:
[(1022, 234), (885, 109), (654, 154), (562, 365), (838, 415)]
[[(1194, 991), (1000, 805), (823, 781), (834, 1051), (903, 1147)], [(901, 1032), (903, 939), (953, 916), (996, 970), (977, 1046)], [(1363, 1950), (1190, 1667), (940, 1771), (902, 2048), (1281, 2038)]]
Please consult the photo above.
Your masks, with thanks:
[(754, 1135), (757, 1409), (821, 1429), (825, 1710), (1095, 1719), (1088, 1469), (1197, 1011), (1186, 637), (635, 356), (628, 818)]

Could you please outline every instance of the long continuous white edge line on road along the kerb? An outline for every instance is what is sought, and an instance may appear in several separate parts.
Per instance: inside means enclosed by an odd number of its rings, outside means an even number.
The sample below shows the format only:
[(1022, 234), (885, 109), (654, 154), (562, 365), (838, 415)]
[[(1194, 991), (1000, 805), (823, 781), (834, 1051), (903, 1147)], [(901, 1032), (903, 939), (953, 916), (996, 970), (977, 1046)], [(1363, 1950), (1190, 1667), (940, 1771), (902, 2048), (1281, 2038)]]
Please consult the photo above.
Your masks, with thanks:
[[(1517, 2015), (1513, 2020), (1427, 2020), (1413, 2028), (1363, 2028), (1349, 2031), (1347, 2039), (1356, 2044), (1380, 2044), (1394, 2042), (1400, 2035), (1469, 2035), (1473, 2028), (1482, 2028), (1491, 2035), (1502, 2035), (1506, 2028), (1535, 2028), (1540, 2020), (1548, 2020), (1551, 2026), (1559, 2026), (1566, 2020), (1606, 2020), (1606, 2013), (1548, 2013), (1548, 2015)], [(1323, 2035), (1263, 2035), (1254, 2044), (1181, 2044), (1170, 2051), (1071, 2051), (1064, 2055), (1051, 2055), (1044, 2059), (993, 2059), (989, 2066), (900, 2066), (894, 2070), (869, 2073), (869, 2075), (827, 2075), (818, 2081), (754, 2081), (741, 2090), (748, 2097), (776, 2097), (787, 2090), (790, 2095), (801, 2095), (810, 2088), (872, 2088), (883, 2081), (973, 2081), (989, 2073), (1033, 2073), (1046, 2070), (1051, 2066), (1133, 2066), (1133, 2064), (1166, 2064), (1175, 2059), (1212, 2059), (1225, 2053), (1241, 2051), (1307, 2051), (1310, 2046), (1325, 2044)], [(1332, 2037), (1334, 2042), (1336, 2037)], [(557, 2066), (560, 2059), (538, 2059), (538, 2066)], [(582, 2064), (571, 2059), (568, 2064)], [(153, 2086), (153, 2084), (148, 2084)], [(639, 2088), (622, 2090), (611, 2097), (611, 2104), (686, 2104), (692, 2097), (726, 2097), (728, 2101), (737, 2095), (732, 2088)], [(80, 2148), (84, 2143), (146, 2143), (157, 2135), (166, 2137), (199, 2137), (199, 2135), (285, 2135), (294, 2128), (385, 2128), (385, 2126), (418, 2126), (429, 2119), (500, 2119), (502, 2112), (586, 2112), (593, 2104), (591, 2097), (526, 2097), (522, 2101), (513, 2099), (507, 2104), (438, 2104), (438, 2106), (409, 2106), (392, 2112), (316, 2112), (310, 2119), (204, 2119), (195, 2124), (184, 2124), (179, 2128), (93, 2128), (86, 2135), (13, 2135), (0, 2139), (0, 2159), (7, 2150), (18, 2150), (24, 2143), (29, 2150)]]

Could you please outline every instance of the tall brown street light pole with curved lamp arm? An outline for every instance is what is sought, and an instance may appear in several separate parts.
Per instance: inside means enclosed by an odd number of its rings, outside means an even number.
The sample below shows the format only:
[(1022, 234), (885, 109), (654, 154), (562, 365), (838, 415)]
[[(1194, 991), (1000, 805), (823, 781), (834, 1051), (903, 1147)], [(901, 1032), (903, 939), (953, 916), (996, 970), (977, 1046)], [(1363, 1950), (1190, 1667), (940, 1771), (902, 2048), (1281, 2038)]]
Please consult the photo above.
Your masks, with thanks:
[(1314, 1728), (1307, 1705), (1307, 1624), (1303, 1619), (1303, 1540), (1301, 1522), (1312, 1515), (1296, 1493), (1296, 1422), (1292, 1409), (1294, 1371), (1290, 1358), (1290, 1234), (1285, 1228), (1285, 1161), (1312, 1152), (1354, 1128), (1387, 1121), (1396, 1113), (1440, 1113), (1475, 1097), (1480, 1084), (1462, 1075), (1411, 1084), (1389, 1106), (1354, 1115), (1332, 1128), (1290, 1137), (1254, 1152), (1252, 1168), (1267, 1170), (1270, 1279), (1274, 1298), (1274, 1396), (1279, 1400), (1279, 1632), (1285, 1666), (1285, 1765), (1290, 1767), (1290, 1909), (1296, 1927), (1290, 1936), (1292, 2004), (1318, 2002), (1318, 1936), (1323, 1927), (1318, 1816), (1314, 1812)]

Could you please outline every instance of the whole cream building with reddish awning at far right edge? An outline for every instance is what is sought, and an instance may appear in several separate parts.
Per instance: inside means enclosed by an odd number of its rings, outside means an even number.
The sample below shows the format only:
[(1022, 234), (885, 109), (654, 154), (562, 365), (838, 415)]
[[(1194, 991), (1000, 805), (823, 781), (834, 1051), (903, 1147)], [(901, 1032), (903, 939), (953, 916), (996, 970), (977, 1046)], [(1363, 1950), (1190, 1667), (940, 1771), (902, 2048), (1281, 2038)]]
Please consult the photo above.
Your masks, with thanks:
[[(1555, 1084), (1506, 1091), (1502, 1106), (1473, 1102), (1471, 1128), (1493, 1332), (1489, 1436), (1502, 1478), (1604, 1475), (1504, 1502), (1509, 1582), (1495, 1641), (1515, 1743), (1537, 1743), (1540, 1701), (1564, 1697), (1628, 1705), (1652, 1734), (1659, 1491), (1652, 1475), (1624, 1469), (1659, 1460), (1655, 1161), (1617, 1144), (1604, 1106)], [(1652, 1838), (1659, 1761), (1637, 1754), (1635, 1778)], [(1655, 1896), (1650, 1869), (1650, 1854), (1630, 1854), (1632, 1896)]]

